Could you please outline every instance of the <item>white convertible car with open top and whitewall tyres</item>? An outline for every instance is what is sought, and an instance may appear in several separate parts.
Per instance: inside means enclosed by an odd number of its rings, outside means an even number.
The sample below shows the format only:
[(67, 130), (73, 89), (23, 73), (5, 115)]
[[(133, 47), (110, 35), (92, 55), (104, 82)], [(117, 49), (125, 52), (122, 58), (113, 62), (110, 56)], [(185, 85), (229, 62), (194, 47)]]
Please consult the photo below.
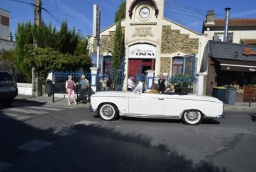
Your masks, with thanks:
[(199, 125), (203, 118), (223, 118), (223, 103), (214, 97), (195, 94), (147, 94), (143, 83), (132, 92), (96, 92), (91, 96), (91, 111), (102, 120), (118, 116), (138, 118), (169, 118), (183, 120), (187, 125)]

